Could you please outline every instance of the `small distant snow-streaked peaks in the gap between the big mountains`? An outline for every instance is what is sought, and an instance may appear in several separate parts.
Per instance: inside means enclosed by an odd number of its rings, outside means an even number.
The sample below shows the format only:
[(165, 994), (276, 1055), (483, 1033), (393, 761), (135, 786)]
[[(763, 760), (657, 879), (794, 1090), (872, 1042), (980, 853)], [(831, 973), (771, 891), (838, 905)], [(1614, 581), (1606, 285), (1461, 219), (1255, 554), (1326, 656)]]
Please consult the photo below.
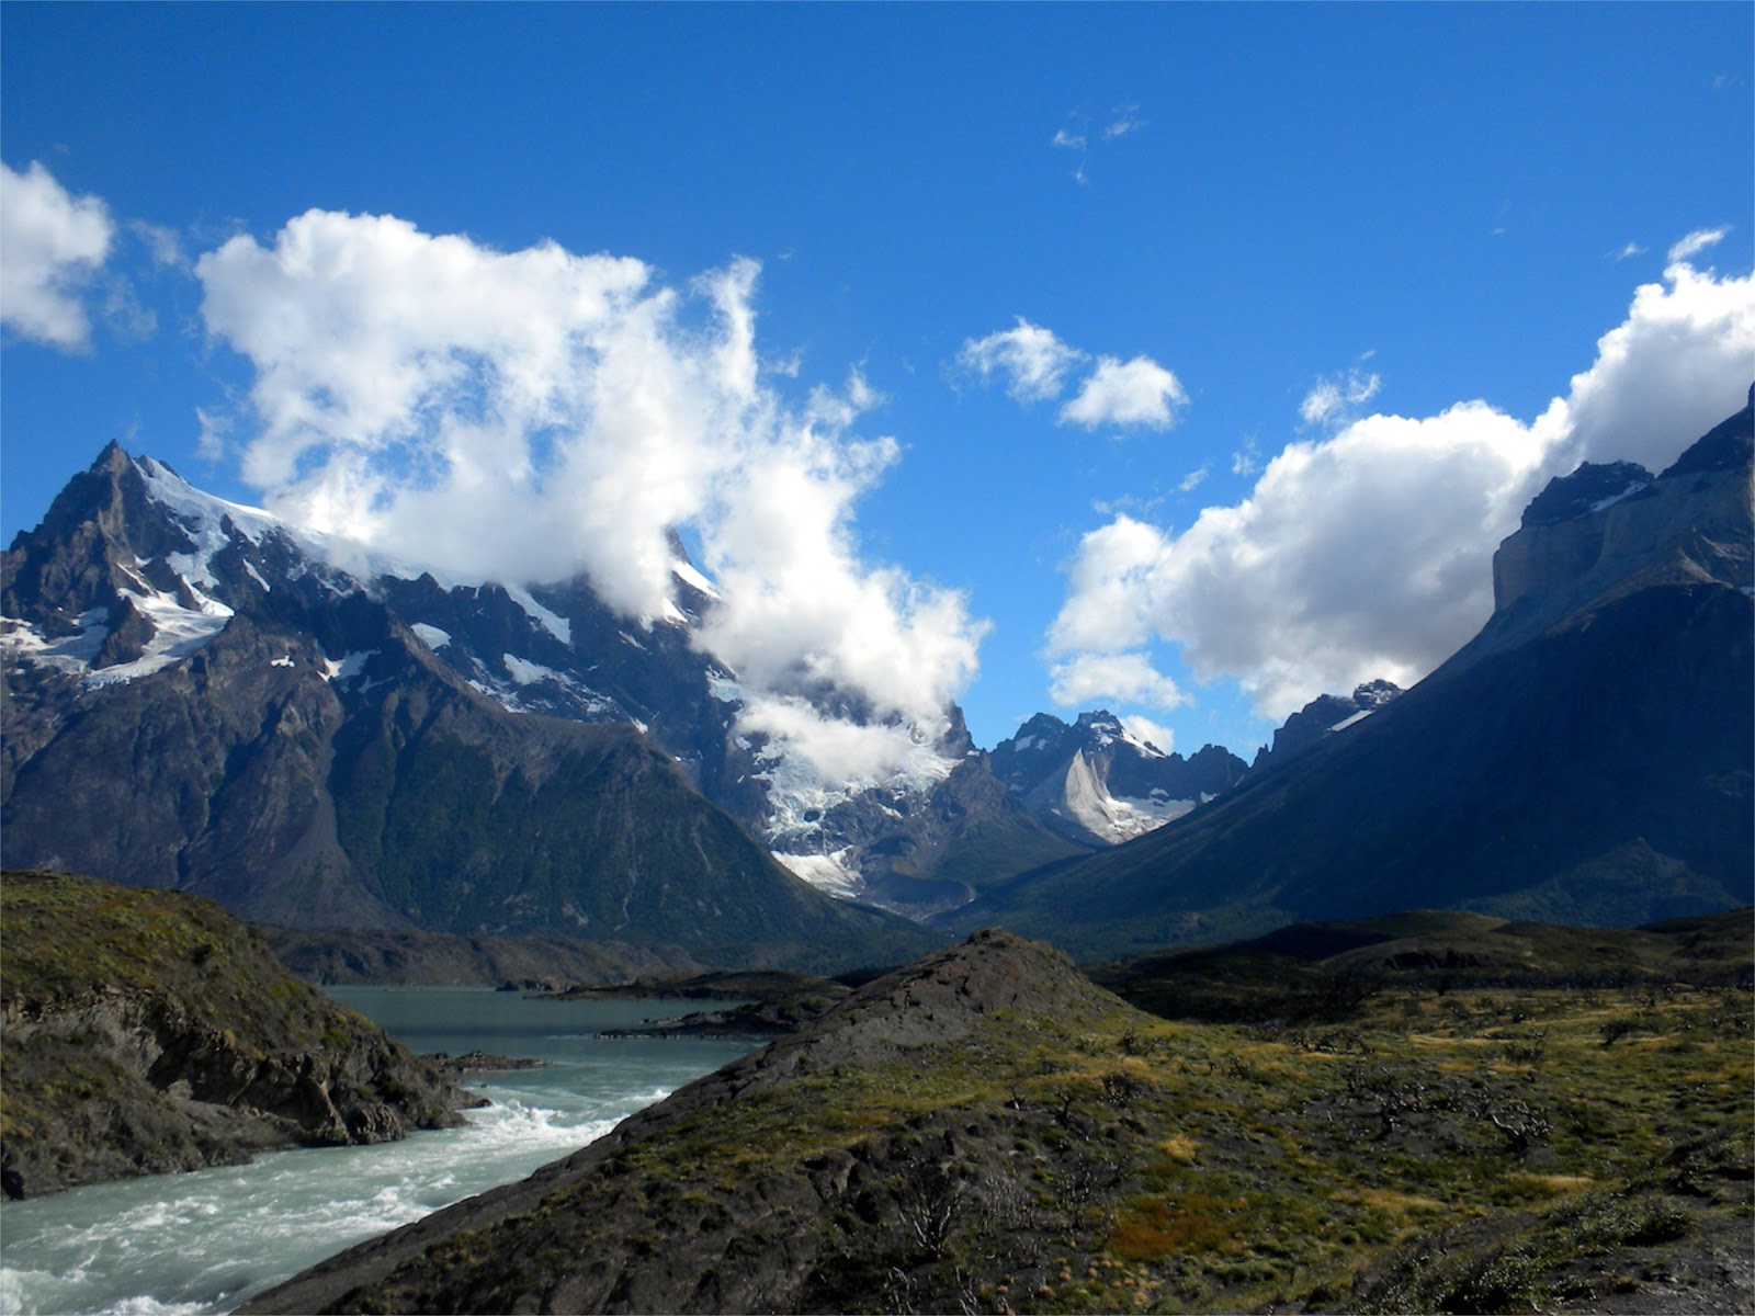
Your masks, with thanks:
[(1214, 798), (1243, 776), (1228, 749), (1167, 755), (1113, 712), (1071, 726), (1039, 712), (993, 749), (993, 772), (1037, 818), (1083, 844), (1132, 840)]

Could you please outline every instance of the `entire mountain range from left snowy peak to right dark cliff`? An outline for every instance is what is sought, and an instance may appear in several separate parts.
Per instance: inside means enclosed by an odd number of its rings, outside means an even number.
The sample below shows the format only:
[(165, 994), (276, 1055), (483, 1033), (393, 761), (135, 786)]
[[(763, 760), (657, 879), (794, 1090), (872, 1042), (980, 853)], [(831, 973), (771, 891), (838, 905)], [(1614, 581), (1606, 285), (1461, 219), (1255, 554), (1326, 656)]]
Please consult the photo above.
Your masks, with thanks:
[(806, 969), (930, 944), (895, 912), (1125, 955), (1409, 904), (1720, 909), (1755, 853), (1750, 540), (1744, 407), (1658, 476), (1553, 481), (1474, 640), (1313, 700), (1251, 765), (1106, 711), (986, 755), (949, 707), (906, 769), (825, 781), (741, 730), (681, 540), (667, 616), (625, 618), (583, 576), (441, 579), (112, 444), (0, 558), (0, 848), (286, 926)]

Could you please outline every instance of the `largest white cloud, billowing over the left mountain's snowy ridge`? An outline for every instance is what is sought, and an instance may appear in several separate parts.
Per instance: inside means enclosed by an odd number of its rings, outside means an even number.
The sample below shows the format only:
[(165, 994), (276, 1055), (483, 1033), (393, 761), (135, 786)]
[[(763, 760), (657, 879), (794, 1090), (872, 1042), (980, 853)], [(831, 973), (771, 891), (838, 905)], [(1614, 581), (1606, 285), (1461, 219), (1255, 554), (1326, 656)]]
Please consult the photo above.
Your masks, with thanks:
[(667, 532), (691, 530), (725, 595), (698, 640), (748, 730), (874, 779), (909, 733), (832, 709), (935, 728), (974, 676), (965, 598), (860, 558), (855, 504), (900, 451), (853, 433), (872, 390), (767, 383), (755, 261), (670, 288), (632, 258), (311, 211), (195, 270), (254, 368), (249, 416), (204, 428), (290, 521), (462, 577), (584, 572), (634, 618), (667, 614)]

